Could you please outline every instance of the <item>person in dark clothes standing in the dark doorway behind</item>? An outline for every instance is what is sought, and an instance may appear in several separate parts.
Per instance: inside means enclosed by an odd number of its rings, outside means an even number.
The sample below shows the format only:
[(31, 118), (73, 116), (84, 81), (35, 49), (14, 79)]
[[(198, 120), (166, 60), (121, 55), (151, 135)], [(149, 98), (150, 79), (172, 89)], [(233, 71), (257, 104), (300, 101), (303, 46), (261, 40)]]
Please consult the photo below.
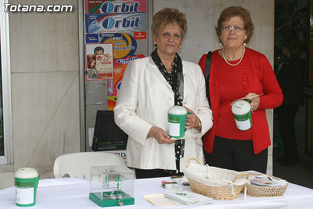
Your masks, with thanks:
[(298, 36), (288, 35), (282, 41), (282, 52), (287, 57), (279, 66), (276, 78), (284, 94), (283, 104), (276, 110), (278, 113), (279, 132), (283, 140), (285, 154), (276, 162), (284, 166), (298, 164), (300, 154), (297, 149), (294, 133), (294, 116), (299, 105), (304, 105), (304, 74), (305, 61), (299, 56), (302, 52), (302, 43)]

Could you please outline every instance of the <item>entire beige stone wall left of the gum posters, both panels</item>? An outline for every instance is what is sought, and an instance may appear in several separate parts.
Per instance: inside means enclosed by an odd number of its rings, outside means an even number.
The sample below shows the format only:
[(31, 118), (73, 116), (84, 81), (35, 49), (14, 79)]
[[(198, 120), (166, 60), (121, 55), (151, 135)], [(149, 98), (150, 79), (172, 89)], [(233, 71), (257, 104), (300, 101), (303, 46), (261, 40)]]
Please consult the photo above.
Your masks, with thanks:
[(0, 165), (1, 181), (20, 167), (53, 178), (54, 160), (81, 150), (78, 1), (22, 4), (73, 5), (73, 11), (9, 12), (14, 165)]

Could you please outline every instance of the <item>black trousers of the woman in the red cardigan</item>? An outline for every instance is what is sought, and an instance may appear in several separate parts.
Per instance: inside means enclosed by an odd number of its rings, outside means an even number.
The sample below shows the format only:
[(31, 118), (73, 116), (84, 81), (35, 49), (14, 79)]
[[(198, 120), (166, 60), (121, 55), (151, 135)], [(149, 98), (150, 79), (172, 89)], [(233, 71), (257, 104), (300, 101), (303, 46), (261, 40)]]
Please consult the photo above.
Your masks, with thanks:
[(207, 153), (205, 150), (203, 153), (209, 166), (235, 171), (254, 170), (261, 173), (266, 173), (268, 166), (268, 148), (254, 154), (252, 140), (215, 136), (212, 153)]

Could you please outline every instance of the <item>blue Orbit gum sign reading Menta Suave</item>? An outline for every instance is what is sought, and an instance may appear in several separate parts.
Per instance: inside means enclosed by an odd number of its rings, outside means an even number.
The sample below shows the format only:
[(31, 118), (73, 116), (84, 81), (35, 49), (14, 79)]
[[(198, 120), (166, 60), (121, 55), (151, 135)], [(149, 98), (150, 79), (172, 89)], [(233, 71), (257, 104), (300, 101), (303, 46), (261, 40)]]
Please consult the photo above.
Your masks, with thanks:
[(147, 31), (147, 13), (85, 14), (86, 33), (127, 33)]

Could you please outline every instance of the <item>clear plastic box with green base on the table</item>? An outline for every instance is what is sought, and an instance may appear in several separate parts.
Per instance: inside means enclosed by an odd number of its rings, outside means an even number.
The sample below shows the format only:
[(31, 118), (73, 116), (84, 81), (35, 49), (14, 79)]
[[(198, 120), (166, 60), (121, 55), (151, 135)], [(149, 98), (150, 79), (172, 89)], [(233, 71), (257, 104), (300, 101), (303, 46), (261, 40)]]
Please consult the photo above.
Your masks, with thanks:
[(134, 171), (123, 165), (90, 168), (89, 199), (100, 207), (134, 205)]

